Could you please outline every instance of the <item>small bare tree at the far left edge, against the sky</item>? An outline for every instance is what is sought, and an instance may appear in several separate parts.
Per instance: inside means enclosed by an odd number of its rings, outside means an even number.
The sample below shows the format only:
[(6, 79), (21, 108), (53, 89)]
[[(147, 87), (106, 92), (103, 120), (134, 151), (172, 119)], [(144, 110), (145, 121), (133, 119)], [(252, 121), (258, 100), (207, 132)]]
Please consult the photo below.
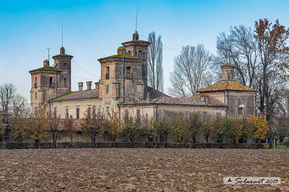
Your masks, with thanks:
[(4, 83), (0, 85), (0, 104), (2, 111), (8, 113), (9, 104), (16, 91), (17, 87), (13, 83)]

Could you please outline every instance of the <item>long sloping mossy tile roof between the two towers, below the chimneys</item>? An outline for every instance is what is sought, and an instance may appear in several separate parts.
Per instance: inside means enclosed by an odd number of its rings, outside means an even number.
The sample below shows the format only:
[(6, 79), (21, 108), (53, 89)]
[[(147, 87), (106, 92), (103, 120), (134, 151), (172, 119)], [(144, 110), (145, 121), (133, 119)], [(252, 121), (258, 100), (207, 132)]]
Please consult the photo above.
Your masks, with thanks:
[(99, 89), (74, 91), (51, 99), (49, 101), (66, 101), (66, 100), (90, 99), (90, 98), (99, 98)]

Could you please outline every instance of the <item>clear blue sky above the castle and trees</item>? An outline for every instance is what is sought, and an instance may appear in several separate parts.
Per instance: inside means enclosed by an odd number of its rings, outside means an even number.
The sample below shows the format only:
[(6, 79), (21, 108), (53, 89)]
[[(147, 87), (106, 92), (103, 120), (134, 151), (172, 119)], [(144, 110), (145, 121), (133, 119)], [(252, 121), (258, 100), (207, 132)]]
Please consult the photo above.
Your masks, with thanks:
[[(116, 54), (122, 42), (132, 39), (138, 5), (139, 34), (162, 35), (163, 45), (181, 50), (203, 43), (216, 53), (216, 36), (230, 26), (254, 26), (268, 18), (289, 27), (289, 1), (2, 1), (0, 9), (0, 84), (12, 82), (30, 98), (29, 70), (43, 66), (47, 48), (51, 56), (63, 46), (73, 55), (71, 75), (98, 79), (97, 59)], [(141, 40), (146, 40), (140, 36)], [(163, 48), (164, 88), (170, 85), (173, 57), (179, 52)], [(51, 60), (52, 64), (52, 60)], [(72, 77), (72, 90), (86, 79)], [(98, 80), (91, 80), (94, 82)], [(92, 84), (94, 85), (94, 84)]]

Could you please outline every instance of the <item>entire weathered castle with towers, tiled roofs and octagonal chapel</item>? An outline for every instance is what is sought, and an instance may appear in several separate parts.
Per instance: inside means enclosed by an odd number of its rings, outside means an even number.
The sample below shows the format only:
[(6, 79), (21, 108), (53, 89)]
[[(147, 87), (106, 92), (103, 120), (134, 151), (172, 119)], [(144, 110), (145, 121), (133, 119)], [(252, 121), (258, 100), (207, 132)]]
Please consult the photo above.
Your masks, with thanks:
[[(198, 90), (200, 94), (188, 98), (173, 98), (147, 85), (148, 41), (139, 39), (138, 33), (132, 40), (121, 43), (117, 54), (98, 59), (101, 78), (95, 82), (78, 83), (79, 90), (71, 91), (71, 59), (61, 47), (60, 54), (53, 56), (50, 66), (45, 60), (43, 67), (29, 71), (32, 86), (30, 103), (32, 107), (43, 105), (46, 110), (57, 110), (62, 118), (72, 115), (81, 119), (86, 110), (95, 105), (105, 110), (113, 109), (119, 115), (140, 116), (148, 114), (154, 119), (171, 118), (176, 113), (188, 116), (199, 111), (203, 118), (216, 115), (228, 117), (249, 117), (255, 114), (257, 90), (234, 81), (235, 66), (221, 65), (222, 81)], [(160, 139), (162, 137), (160, 136)]]

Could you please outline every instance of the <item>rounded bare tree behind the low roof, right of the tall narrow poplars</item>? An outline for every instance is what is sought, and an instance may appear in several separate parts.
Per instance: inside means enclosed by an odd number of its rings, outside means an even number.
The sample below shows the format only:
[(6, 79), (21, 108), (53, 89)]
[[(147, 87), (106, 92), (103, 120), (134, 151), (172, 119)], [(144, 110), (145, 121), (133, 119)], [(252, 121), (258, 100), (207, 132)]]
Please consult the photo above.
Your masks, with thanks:
[(203, 44), (198, 44), (197, 47), (183, 46), (181, 54), (174, 58), (169, 94), (176, 97), (196, 95), (197, 90), (208, 84), (204, 81), (209, 75), (210, 60), (210, 53)]

